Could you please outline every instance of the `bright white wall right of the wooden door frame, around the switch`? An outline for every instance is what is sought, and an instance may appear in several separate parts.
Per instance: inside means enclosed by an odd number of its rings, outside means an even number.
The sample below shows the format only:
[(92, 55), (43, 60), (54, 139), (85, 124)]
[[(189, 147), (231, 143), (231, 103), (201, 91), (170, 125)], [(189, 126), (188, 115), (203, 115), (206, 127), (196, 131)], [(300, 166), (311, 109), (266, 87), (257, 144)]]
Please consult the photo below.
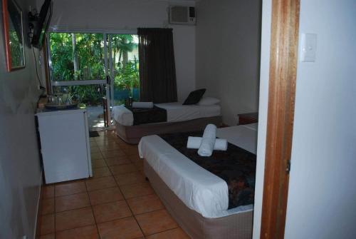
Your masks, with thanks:
[(356, 235), (356, 1), (301, 0), (300, 34), (318, 35), (298, 63), (285, 238)]

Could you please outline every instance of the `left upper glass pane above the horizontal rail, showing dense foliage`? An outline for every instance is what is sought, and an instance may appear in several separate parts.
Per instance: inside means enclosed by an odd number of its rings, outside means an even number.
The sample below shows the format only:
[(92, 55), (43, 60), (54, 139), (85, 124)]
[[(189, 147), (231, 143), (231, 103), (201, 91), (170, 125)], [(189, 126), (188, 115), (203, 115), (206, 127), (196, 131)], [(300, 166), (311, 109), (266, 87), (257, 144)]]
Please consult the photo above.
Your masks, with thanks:
[(50, 33), (52, 81), (105, 79), (103, 34)]

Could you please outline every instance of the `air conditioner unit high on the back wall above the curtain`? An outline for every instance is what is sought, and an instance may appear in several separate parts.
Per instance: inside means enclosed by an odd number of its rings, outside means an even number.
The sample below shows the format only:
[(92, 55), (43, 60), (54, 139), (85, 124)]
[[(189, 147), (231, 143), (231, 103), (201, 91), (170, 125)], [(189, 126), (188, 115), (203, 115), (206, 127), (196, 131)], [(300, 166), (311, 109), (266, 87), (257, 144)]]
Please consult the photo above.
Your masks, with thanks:
[(194, 6), (169, 6), (169, 24), (195, 25), (196, 23)]

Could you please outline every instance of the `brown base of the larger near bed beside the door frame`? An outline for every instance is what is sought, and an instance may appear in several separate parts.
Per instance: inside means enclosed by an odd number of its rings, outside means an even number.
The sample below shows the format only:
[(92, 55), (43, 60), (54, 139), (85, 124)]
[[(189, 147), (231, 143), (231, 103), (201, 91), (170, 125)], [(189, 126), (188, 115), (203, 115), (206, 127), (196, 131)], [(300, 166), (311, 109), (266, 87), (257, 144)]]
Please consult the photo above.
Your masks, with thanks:
[(181, 228), (194, 239), (251, 239), (253, 211), (228, 215), (221, 218), (204, 218), (188, 208), (177, 195), (159, 178), (155, 170), (144, 160), (145, 176), (150, 180), (169, 214)]

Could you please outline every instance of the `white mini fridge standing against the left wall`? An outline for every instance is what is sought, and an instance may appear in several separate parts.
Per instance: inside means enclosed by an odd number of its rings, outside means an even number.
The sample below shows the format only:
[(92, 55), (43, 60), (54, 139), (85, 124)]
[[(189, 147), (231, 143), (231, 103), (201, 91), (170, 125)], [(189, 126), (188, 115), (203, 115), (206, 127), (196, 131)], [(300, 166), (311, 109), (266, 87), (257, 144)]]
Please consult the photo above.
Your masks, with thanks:
[(36, 116), (46, 183), (93, 176), (85, 109), (43, 110)]

